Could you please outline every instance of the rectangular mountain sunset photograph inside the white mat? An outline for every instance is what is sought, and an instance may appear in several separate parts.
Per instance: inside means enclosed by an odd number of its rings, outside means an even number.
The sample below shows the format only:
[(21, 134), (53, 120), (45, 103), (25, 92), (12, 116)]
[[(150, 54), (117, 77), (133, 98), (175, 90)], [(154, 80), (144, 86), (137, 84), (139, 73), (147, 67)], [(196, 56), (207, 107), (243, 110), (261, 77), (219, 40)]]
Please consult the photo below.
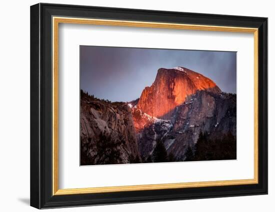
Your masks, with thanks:
[(236, 52), (79, 48), (81, 166), (236, 160)]

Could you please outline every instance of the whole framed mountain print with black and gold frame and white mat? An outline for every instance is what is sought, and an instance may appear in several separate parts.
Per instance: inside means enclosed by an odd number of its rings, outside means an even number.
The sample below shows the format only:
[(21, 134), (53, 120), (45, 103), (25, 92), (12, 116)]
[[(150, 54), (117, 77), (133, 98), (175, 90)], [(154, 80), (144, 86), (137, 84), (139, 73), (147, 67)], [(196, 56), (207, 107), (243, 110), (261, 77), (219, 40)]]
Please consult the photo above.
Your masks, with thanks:
[(30, 7), (30, 205), (267, 194), (267, 18)]

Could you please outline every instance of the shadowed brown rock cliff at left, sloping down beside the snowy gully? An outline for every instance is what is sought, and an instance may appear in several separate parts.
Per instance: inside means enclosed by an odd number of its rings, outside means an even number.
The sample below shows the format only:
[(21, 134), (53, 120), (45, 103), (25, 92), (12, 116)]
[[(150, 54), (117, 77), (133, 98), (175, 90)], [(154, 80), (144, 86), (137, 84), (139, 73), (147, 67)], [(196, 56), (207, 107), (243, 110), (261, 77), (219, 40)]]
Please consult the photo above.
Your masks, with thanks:
[(140, 153), (131, 109), (81, 92), (81, 165), (137, 163)]

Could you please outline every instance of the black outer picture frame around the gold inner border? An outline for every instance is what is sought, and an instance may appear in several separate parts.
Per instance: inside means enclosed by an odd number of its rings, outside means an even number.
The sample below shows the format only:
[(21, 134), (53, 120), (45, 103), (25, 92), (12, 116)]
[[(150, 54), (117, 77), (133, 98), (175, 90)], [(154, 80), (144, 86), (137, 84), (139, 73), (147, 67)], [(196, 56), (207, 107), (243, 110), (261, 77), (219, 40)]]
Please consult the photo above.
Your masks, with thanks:
[[(52, 16), (258, 28), (258, 184), (52, 195)], [(30, 206), (37, 209), (267, 194), (267, 18), (38, 3), (30, 6)]]

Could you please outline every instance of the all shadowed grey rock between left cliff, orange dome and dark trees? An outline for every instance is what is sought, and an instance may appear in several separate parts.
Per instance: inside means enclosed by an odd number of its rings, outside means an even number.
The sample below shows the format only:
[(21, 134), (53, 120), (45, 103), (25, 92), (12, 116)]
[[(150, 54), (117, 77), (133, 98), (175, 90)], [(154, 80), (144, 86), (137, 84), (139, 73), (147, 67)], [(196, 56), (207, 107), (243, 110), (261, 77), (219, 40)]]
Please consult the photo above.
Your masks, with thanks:
[[(135, 113), (133, 120), (136, 121)], [(150, 156), (156, 140), (160, 139), (167, 153), (182, 161), (187, 148), (194, 147), (200, 132), (207, 132), (212, 139), (228, 132), (236, 136), (235, 94), (200, 90), (174, 108), (171, 120), (148, 122), (137, 134), (141, 156)]]

